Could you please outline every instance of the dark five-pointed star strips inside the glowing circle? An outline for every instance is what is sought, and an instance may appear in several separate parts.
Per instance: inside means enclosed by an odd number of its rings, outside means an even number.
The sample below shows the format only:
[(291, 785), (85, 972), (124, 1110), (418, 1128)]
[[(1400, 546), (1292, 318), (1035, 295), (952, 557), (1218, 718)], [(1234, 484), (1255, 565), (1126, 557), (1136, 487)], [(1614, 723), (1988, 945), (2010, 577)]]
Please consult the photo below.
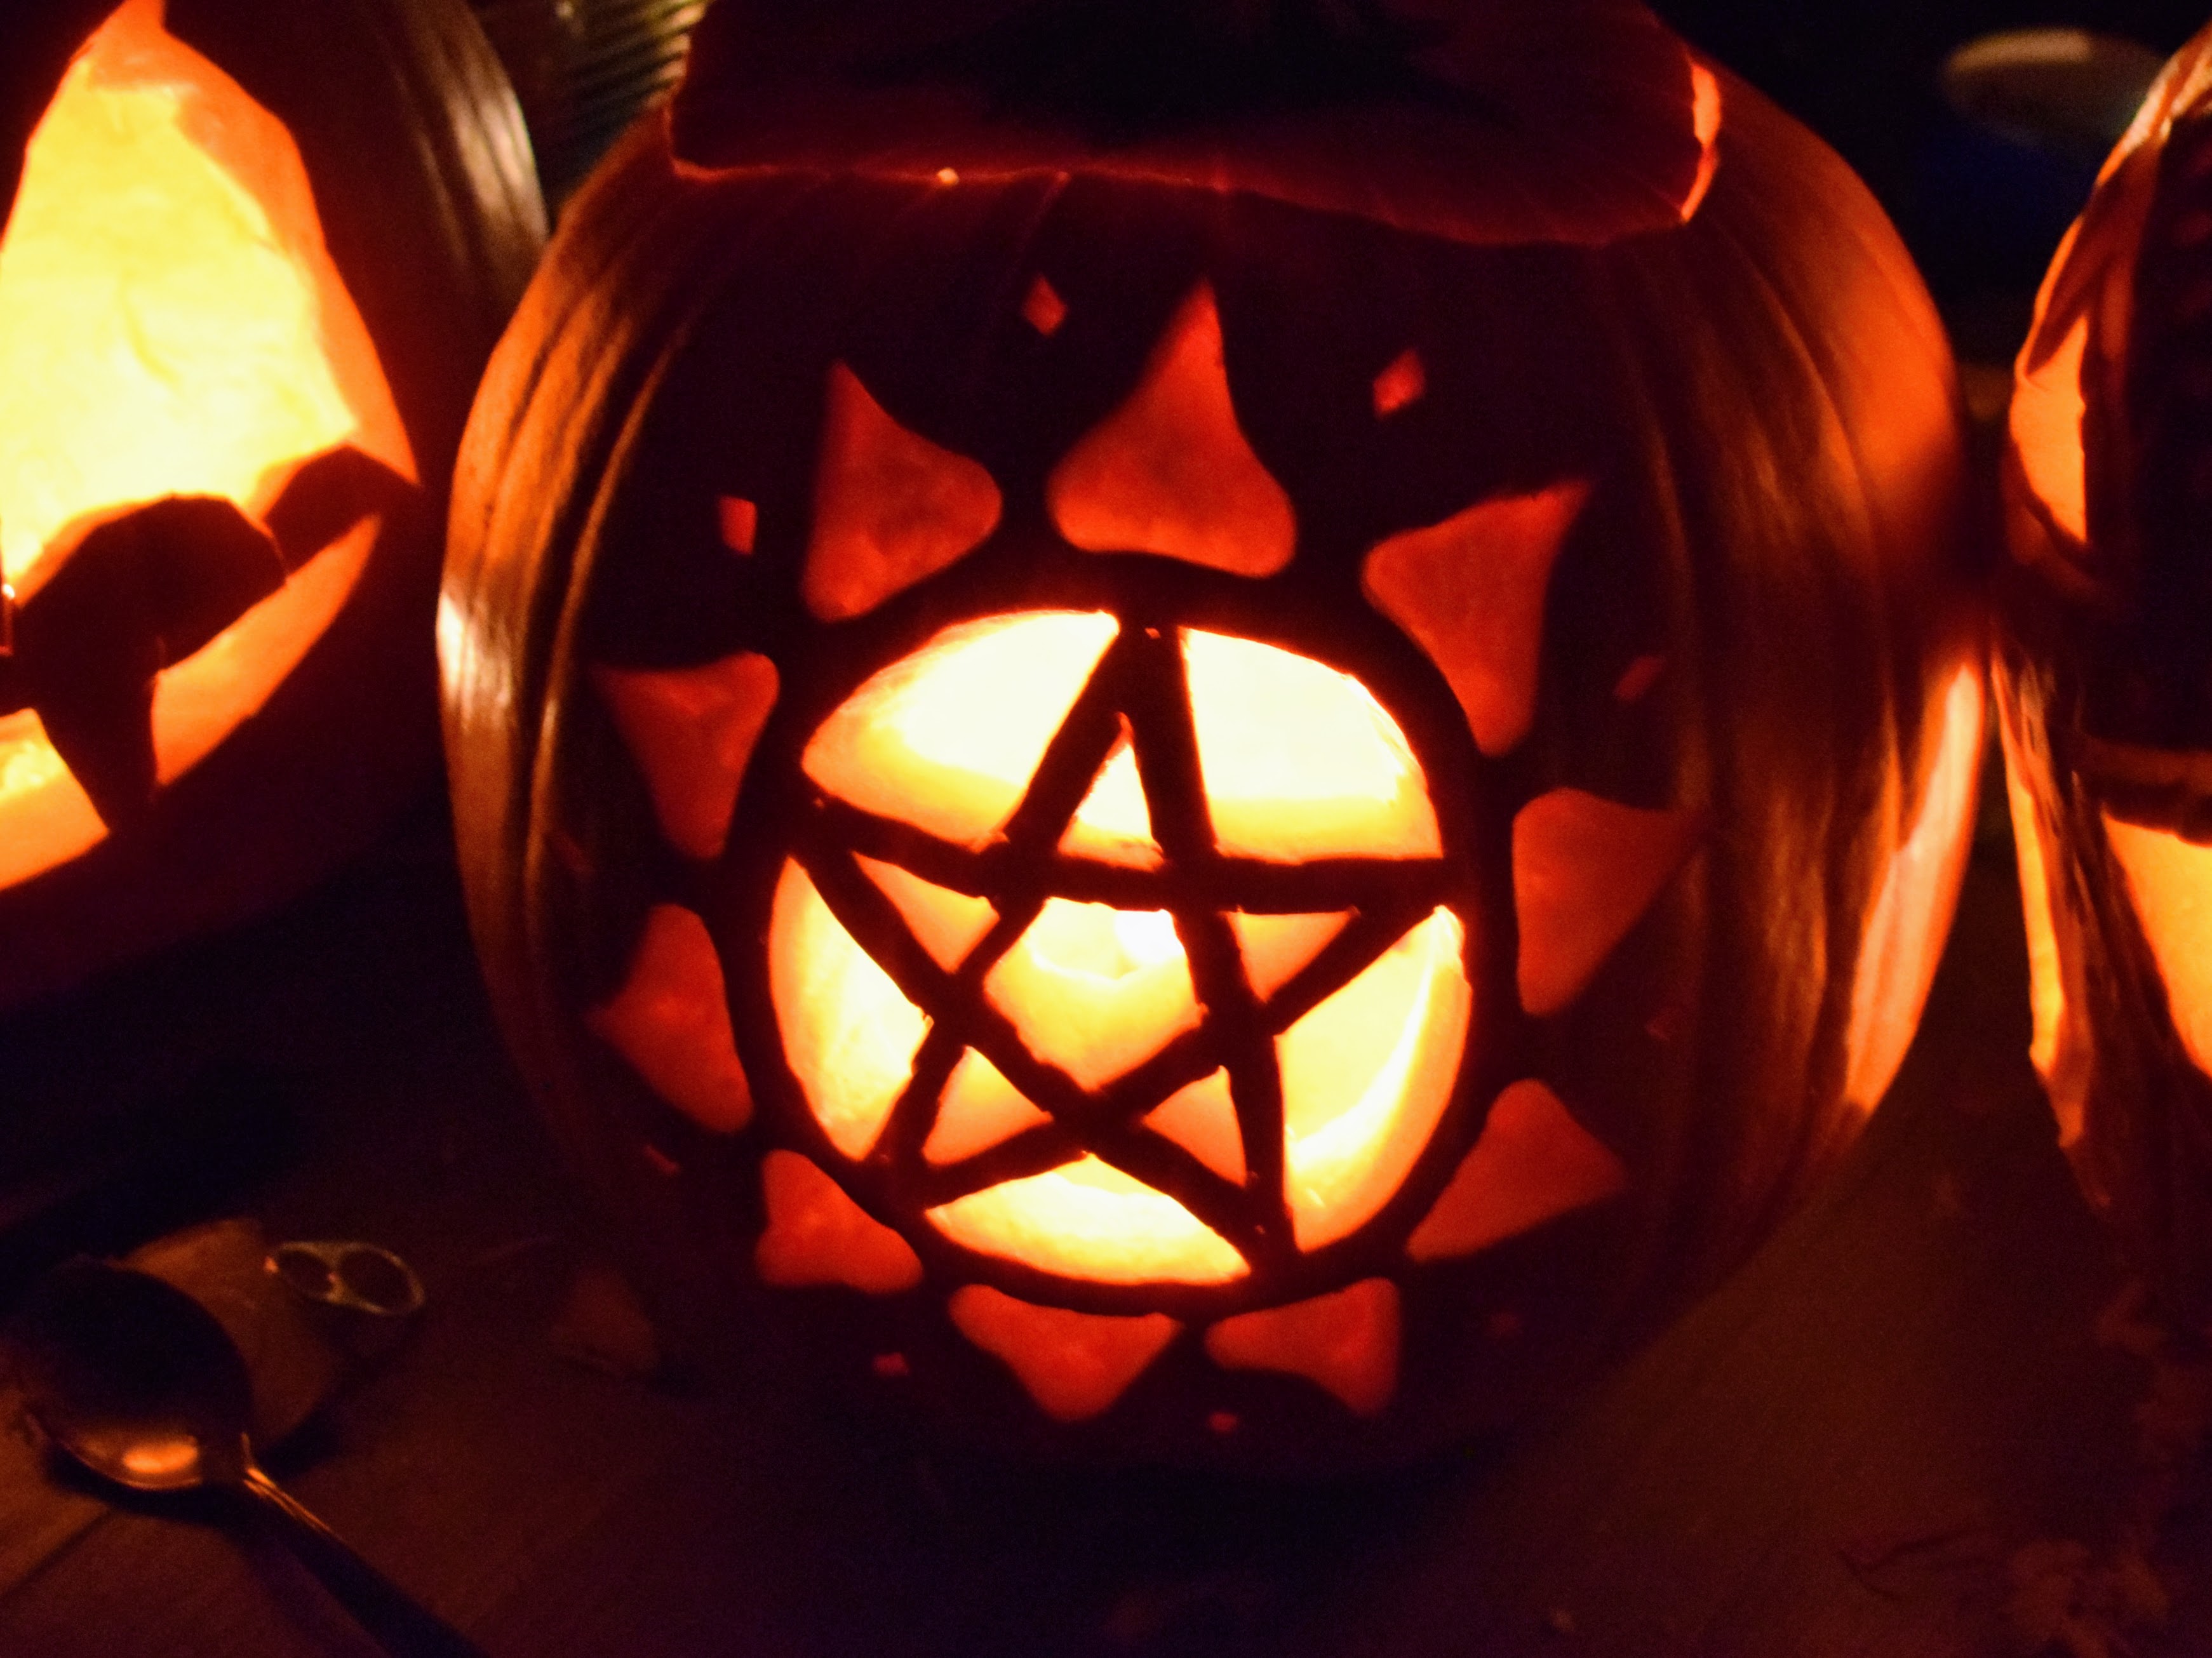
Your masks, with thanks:
[[(1121, 745), (1159, 858), (1146, 867), (1068, 849), (1068, 829)], [(931, 1209), (1095, 1156), (1179, 1200), (1254, 1273), (1296, 1256), (1285, 1196), (1283, 1074), (1276, 1037), (1345, 988), (1427, 917), (1447, 891), (1442, 858), (1336, 856), (1270, 862), (1221, 851), (1199, 767), (1181, 634), (1124, 615), (1026, 791), (987, 844), (960, 844), (816, 789), (794, 856), (832, 915), (929, 1017), (914, 1072), (869, 1163), (894, 1203)], [(951, 964), (916, 935), (860, 860), (902, 869), (989, 902), (991, 920)], [(1197, 1021), (1110, 1079), (1084, 1085), (1040, 1057), (987, 979), (1051, 900), (1166, 913), (1188, 959)], [(1318, 953), (1265, 993), (1254, 986), (1232, 915), (1349, 913)], [(922, 1154), (956, 1066), (982, 1054), (1048, 1121), (973, 1154)], [(1144, 1119), (1179, 1090), (1225, 1072), (1241, 1141), (1232, 1180)], [(911, 1207), (909, 1207), (911, 1205)]]

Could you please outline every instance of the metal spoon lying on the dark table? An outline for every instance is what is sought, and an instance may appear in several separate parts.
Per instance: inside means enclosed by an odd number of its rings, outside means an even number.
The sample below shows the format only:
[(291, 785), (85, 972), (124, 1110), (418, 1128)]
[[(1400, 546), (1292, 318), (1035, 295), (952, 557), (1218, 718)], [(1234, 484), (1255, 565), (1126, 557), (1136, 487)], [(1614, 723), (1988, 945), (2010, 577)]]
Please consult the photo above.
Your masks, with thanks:
[(88, 1470), (144, 1492), (237, 1492), (387, 1651), (484, 1658), (254, 1466), (246, 1362), (181, 1289), (71, 1260), (46, 1273), (11, 1337), (31, 1417)]

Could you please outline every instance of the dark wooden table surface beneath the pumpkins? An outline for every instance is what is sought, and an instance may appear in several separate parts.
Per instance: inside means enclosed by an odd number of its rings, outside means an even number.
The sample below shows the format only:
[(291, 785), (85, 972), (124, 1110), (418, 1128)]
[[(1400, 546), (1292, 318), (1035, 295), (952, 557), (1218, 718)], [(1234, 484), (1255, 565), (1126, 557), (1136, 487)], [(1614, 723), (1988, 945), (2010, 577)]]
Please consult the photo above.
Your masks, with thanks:
[[(414, 1342), (270, 1461), (495, 1658), (2212, 1651), (2212, 1525), (2141, 1503), (2154, 1366), (2097, 1335), (2121, 1276), (2024, 1061), (2002, 840), (1898, 1088), (1750, 1267), (1513, 1444), (1323, 1488), (991, 1468), (562, 1357), (588, 1227), (440, 847), (425, 814), (283, 917), (0, 1024), (0, 1295), (217, 1214), (398, 1249)], [(2115, 1565), (2137, 1512), (2163, 1627)], [(361, 1651), (268, 1543), (108, 1505), (0, 1430), (0, 1654)]]

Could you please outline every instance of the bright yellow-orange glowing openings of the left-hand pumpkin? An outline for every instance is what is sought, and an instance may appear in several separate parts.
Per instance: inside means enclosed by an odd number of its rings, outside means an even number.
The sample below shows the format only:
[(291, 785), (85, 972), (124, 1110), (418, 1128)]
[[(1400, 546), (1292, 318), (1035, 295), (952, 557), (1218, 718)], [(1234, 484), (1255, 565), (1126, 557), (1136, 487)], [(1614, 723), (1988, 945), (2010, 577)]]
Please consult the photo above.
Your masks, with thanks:
[[(352, 444), (414, 482), (376, 349), (323, 248), (290, 133), (161, 29), (117, 11), (69, 66), (0, 239), (0, 570), (15, 604), (122, 508), (215, 495), (259, 520)], [(349, 595), (356, 524), (155, 681), (159, 783), (261, 707)], [(0, 886), (106, 833), (33, 707), (0, 716)]]

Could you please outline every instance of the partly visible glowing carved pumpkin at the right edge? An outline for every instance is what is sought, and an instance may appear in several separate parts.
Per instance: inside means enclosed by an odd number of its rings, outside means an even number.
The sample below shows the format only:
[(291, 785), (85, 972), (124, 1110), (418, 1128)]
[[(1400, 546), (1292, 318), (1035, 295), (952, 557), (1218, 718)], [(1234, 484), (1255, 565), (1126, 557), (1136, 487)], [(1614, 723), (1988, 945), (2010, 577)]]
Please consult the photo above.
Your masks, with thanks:
[(2093, 1207), (2212, 1313), (2212, 35), (2044, 279), (2006, 451), (1997, 652), (2033, 1059)]

